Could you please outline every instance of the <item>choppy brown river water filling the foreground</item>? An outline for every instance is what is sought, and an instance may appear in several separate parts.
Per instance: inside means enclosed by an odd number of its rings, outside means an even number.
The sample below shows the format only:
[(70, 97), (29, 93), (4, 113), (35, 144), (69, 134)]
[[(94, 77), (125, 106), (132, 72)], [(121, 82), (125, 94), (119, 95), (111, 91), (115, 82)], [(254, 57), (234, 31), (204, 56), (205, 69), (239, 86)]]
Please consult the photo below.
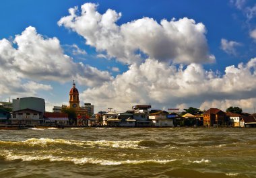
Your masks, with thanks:
[(0, 177), (256, 177), (256, 128), (0, 130)]

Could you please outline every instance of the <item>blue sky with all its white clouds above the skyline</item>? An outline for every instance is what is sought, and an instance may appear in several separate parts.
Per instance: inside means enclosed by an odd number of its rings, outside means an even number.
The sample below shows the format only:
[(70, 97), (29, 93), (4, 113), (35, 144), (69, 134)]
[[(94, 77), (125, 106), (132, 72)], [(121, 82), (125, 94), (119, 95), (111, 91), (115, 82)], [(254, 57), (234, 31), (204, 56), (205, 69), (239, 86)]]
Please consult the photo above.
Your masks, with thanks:
[(253, 0), (0, 1), (0, 101), (256, 107)]

